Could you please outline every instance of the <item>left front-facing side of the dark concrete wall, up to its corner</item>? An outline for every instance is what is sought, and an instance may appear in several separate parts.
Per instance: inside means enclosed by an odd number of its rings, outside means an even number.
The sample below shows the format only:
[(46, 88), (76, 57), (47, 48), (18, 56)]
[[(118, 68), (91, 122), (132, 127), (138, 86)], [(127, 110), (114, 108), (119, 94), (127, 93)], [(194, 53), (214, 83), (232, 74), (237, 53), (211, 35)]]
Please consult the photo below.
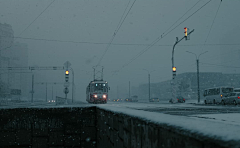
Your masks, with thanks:
[(96, 147), (96, 108), (0, 110), (0, 147)]

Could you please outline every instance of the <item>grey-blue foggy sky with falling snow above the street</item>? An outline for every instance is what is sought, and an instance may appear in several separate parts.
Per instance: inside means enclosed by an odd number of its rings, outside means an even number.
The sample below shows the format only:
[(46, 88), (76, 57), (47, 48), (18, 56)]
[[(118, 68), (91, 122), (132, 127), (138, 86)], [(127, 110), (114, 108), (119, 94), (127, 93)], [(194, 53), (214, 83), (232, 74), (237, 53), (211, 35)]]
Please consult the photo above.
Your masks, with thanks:
[[(239, 68), (230, 66), (237, 66), (239, 59), (232, 56), (239, 55), (240, 1), (207, 2), (0, 0), (0, 23), (12, 26), (15, 42), (28, 44), (29, 66), (63, 66), (70, 61), (76, 98), (85, 100), (86, 86), (93, 79), (92, 67), (98, 63), (104, 67), (103, 78), (112, 92), (117, 86), (127, 91), (129, 81), (131, 86), (147, 83), (146, 70), (152, 83), (171, 79), (172, 48), (176, 37), (184, 36), (184, 27), (194, 32), (190, 40), (175, 48), (177, 74), (196, 72), (196, 58), (186, 51), (197, 55), (208, 51), (200, 56), (200, 72), (239, 73)], [(126, 19), (108, 48), (122, 16)], [(148, 48), (157, 38), (160, 41)], [(35, 73), (37, 82), (64, 82), (64, 71)], [(63, 86), (58, 88), (61, 92)]]

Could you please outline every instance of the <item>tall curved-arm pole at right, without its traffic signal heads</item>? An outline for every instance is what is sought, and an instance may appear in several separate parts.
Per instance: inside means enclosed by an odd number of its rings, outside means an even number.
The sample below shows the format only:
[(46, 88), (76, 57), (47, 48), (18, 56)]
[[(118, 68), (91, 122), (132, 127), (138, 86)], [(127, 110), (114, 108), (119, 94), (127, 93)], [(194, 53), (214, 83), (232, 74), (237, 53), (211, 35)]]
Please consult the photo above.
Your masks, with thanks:
[[(186, 35), (190, 35), (193, 31), (194, 31), (194, 29), (193, 29), (192, 31), (190, 31), (188, 34), (185, 32), (185, 34), (186, 34)], [(186, 40), (187, 40), (187, 36), (182, 37), (180, 40), (178, 40), (178, 37), (176, 37), (176, 42), (175, 42), (175, 44), (173, 45), (173, 50), (172, 50), (172, 69), (175, 67), (175, 66), (174, 66), (174, 50), (175, 50), (175, 46), (176, 46), (179, 42), (181, 42), (183, 39), (186, 39)], [(174, 99), (176, 98), (176, 97), (175, 97), (175, 91), (176, 91), (176, 89), (175, 89), (175, 83), (174, 83), (175, 77), (176, 77), (176, 70), (175, 70), (175, 72), (173, 71), (173, 75), (172, 75), (172, 83), (171, 83), (171, 85), (172, 85), (172, 99), (170, 100), (171, 103), (173, 103)]]

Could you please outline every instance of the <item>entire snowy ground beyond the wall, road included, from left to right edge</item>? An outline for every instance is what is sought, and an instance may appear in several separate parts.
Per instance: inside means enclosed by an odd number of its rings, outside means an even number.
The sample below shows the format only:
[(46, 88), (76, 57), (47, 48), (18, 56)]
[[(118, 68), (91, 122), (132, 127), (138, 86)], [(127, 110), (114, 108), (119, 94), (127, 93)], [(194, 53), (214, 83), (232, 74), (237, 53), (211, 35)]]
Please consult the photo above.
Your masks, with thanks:
[(55, 103), (21, 102), (1, 105), (0, 108), (52, 108), (52, 107), (90, 107), (124, 113), (160, 124), (177, 126), (193, 133), (220, 138), (225, 141), (240, 141), (240, 106), (204, 105), (196, 101), (170, 104), (161, 102), (111, 102), (107, 104), (88, 104), (75, 102), (56, 106)]

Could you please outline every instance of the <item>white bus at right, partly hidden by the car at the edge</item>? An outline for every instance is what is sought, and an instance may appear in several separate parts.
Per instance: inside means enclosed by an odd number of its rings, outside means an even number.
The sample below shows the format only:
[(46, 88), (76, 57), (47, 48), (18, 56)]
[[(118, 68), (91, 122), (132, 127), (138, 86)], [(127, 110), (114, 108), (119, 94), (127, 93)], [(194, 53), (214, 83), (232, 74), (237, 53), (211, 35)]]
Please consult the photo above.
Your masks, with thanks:
[(204, 90), (204, 103), (221, 103), (222, 98), (233, 92), (233, 87), (215, 87)]

